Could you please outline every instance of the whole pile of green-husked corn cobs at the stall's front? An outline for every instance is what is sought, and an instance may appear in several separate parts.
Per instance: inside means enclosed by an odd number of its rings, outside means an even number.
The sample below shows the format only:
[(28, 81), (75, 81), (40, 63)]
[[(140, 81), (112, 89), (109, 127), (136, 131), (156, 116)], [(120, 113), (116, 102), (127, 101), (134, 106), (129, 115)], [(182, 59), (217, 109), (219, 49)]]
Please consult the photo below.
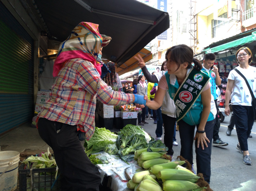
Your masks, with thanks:
[[(150, 150), (156, 152), (148, 152)], [(209, 187), (202, 174), (197, 176), (181, 166), (185, 161), (170, 162), (160, 148), (148, 148), (148, 151), (135, 151), (135, 160), (144, 170), (133, 175), (127, 183), (128, 188), (134, 191), (200, 191)]]

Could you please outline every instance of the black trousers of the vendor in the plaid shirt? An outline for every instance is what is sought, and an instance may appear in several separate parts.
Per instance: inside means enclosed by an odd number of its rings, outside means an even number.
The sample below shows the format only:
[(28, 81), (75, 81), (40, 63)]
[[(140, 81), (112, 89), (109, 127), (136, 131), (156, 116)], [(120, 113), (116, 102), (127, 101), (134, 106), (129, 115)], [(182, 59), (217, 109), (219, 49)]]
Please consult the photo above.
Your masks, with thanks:
[(40, 118), (38, 132), (52, 147), (62, 175), (61, 191), (99, 191), (100, 173), (85, 154), (77, 137), (76, 125)]

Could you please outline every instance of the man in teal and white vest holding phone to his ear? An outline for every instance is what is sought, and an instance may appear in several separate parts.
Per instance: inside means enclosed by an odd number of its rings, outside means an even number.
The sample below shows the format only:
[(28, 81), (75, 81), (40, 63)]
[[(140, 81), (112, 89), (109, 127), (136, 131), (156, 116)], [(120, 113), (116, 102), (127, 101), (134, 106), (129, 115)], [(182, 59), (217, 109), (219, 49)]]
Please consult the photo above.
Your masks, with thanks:
[(220, 121), (218, 118), (218, 105), (217, 105), (217, 95), (216, 95), (216, 85), (221, 84), (221, 79), (219, 76), (218, 68), (216, 66), (213, 66), (215, 60), (215, 55), (213, 53), (208, 53), (204, 55), (204, 60), (203, 60), (203, 68), (202, 72), (210, 77), (210, 82), (212, 84), (211, 87), (211, 93), (214, 97), (214, 102), (216, 105), (217, 109), (217, 114), (216, 114), (216, 122), (213, 127), (213, 146), (227, 146), (228, 143), (221, 141), (219, 137), (219, 129), (220, 129)]

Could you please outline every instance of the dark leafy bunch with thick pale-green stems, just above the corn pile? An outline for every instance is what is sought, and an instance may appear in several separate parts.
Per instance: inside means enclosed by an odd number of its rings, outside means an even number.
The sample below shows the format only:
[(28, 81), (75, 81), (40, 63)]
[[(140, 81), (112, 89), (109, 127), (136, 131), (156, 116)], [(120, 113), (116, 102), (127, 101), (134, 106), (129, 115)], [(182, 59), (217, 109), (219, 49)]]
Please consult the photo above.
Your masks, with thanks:
[(147, 140), (142, 134), (132, 135), (132, 140), (129, 143), (129, 147), (126, 147), (121, 154), (123, 156), (128, 155), (130, 152), (134, 152), (136, 149), (142, 149), (147, 147)]

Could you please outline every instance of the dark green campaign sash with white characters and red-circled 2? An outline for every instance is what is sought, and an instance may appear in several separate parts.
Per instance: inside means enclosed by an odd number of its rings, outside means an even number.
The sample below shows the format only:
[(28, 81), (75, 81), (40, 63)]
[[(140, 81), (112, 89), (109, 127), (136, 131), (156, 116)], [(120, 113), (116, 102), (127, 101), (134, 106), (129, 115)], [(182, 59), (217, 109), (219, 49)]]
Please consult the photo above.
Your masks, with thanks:
[(173, 100), (176, 106), (177, 122), (180, 121), (196, 102), (210, 77), (196, 69), (191, 69), (175, 93)]

